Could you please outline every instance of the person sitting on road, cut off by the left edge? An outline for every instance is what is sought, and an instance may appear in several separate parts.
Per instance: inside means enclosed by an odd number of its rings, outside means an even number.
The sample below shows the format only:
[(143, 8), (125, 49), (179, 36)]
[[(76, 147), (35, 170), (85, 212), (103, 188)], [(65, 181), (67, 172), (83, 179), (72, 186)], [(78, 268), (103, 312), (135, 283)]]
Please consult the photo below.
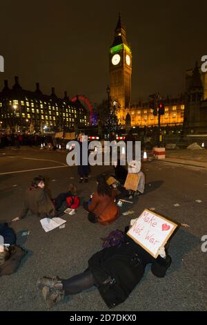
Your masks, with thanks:
[(16, 245), (16, 236), (7, 223), (0, 223), (0, 277), (19, 268), (26, 251)]

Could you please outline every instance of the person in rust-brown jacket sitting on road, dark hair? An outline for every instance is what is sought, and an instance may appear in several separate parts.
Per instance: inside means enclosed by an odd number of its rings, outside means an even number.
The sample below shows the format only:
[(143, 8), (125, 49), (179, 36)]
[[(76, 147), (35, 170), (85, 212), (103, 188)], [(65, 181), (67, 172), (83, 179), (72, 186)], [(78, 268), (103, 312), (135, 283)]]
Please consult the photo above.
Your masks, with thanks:
[(116, 190), (111, 189), (106, 183), (106, 177), (97, 176), (97, 191), (92, 195), (90, 204), (83, 203), (83, 207), (89, 212), (88, 220), (92, 223), (109, 225), (119, 216), (119, 209), (115, 204)]

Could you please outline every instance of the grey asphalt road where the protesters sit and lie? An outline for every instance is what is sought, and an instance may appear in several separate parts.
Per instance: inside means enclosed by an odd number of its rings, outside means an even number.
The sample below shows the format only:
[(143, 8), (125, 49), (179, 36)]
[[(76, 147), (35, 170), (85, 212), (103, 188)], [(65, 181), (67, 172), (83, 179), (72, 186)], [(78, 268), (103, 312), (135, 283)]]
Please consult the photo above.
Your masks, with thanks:
[[(135, 214), (120, 216), (112, 225), (89, 223), (82, 207), (75, 215), (66, 216), (66, 228), (48, 233), (43, 231), (36, 216), (28, 215), (12, 223), (17, 243), (28, 254), (18, 272), (0, 278), (0, 310), (47, 310), (35, 286), (38, 277), (67, 278), (82, 272), (92, 254), (101, 250), (101, 238), (111, 230), (124, 230), (130, 219), (152, 207), (155, 212), (189, 227), (181, 226), (170, 241), (172, 265), (166, 277), (156, 278), (148, 266), (130, 297), (115, 310), (206, 310), (207, 252), (201, 252), (201, 237), (207, 235), (207, 170), (154, 161), (143, 163), (142, 169), (146, 174), (146, 193), (133, 206), (124, 206)], [(46, 176), (54, 197), (64, 192), (71, 181), (77, 183), (83, 201), (95, 189), (95, 176), (111, 172), (111, 167), (92, 167), (89, 183), (79, 185), (77, 167), (66, 166), (64, 152), (1, 150), (0, 221), (9, 222), (18, 215), (24, 192), (34, 176)], [(22, 236), (26, 231), (30, 234)], [(108, 308), (98, 290), (91, 288), (64, 299), (52, 310), (108, 311)]]

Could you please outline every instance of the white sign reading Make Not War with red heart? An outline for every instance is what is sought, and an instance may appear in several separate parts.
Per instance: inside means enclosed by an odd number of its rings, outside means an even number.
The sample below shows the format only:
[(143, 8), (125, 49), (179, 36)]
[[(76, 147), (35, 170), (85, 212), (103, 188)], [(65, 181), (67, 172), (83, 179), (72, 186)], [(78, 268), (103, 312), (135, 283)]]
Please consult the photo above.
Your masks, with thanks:
[(144, 210), (127, 234), (157, 259), (159, 248), (166, 244), (175, 228), (177, 225), (172, 221)]

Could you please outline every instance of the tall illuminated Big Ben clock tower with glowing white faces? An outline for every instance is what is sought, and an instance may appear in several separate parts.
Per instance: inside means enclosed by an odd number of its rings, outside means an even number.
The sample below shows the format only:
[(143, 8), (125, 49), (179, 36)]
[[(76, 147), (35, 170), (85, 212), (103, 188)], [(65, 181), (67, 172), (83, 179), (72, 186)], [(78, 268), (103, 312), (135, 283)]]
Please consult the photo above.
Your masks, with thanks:
[(132, 52), (126, 40), (126, 28), (121, 23), (121, 15), (115, 28), (115, 39), (110, 47), (110, 97), (118, 102), (117, 115), (119, 122), (124, 124), (124, 110), (130, 106)]

